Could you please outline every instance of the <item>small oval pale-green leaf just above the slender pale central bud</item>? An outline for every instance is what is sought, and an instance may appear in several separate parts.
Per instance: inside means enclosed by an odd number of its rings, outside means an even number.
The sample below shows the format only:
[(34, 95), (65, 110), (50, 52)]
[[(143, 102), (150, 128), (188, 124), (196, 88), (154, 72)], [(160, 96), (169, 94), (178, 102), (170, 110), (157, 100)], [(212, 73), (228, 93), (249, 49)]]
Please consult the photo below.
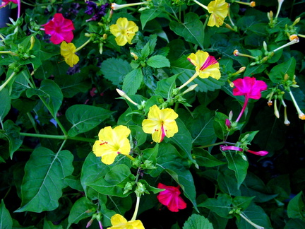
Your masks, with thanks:
[(141, 68), (133, 69), (124, 77), (122, 89), (126, 94), (134, 95), (136, 94), (137, 90), (140, 88), (142, 81), (143, 81), (142, 69)]

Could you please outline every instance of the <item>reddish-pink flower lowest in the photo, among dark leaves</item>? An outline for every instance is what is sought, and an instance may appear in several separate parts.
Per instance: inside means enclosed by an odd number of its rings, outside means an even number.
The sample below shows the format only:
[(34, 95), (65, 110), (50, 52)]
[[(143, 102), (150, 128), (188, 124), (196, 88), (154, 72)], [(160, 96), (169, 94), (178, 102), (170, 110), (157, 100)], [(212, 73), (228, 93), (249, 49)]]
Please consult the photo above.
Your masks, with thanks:
[(157, 199), (161, 204), (167, 206), (169, 211), (177, 212), (179, 209), (186, 208), (186, 202), (180, 196), (179, 186), (173, 187), (159, 183), (157, 187), (158, 189), (166, 189), (157, 195)]

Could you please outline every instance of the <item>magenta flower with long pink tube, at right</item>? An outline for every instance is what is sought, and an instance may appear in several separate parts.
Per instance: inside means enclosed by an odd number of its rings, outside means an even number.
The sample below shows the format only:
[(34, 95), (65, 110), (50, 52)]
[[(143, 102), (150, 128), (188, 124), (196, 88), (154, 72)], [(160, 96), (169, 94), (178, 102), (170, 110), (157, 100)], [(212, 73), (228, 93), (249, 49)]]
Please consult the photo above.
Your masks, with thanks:
[(245, 101), (244, 106), (241, 109), (239, 117), (235, 122), (239, 122), (241, 115), (246, 110), (249, 98), (258, 100), (261, 98), (261, 91), (267, 89), (267, 84), (264, 81), (256, 81), (256, 78), (245, 76), (244, 78), (237, 78), (233, 81), (235, 88), (233, 89), (233, 95), (244, 95)]

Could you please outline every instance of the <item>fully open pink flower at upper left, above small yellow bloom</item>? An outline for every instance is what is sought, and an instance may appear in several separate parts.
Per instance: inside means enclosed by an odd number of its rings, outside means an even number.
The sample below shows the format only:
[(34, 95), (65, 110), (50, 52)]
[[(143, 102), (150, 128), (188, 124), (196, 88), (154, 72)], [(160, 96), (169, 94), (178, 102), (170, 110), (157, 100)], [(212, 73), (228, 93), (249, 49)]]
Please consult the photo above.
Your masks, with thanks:
[(72, 20), (64, 18), (61, 13), (55, 13), (54, 18), (47, 24), (44, 24), (45, 33), (51, 35), (51, 42), (54, 45), (73, 40), (74, 25)]

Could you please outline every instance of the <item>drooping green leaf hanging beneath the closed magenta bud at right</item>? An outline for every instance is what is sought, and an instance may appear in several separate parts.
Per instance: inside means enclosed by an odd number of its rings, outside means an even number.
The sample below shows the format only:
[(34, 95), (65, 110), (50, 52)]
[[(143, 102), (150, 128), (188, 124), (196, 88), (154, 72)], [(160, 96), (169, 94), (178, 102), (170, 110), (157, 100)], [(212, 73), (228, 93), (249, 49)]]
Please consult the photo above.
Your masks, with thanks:
[(239, 189), (241, 183), (244, 182), (244, 179), (246, 178), (249, 163), (234, 151), (227, 151), (225, 157), (227, 158), (228, 168), (235, 172), (235, 177), (237, 178), (237, 189)]

